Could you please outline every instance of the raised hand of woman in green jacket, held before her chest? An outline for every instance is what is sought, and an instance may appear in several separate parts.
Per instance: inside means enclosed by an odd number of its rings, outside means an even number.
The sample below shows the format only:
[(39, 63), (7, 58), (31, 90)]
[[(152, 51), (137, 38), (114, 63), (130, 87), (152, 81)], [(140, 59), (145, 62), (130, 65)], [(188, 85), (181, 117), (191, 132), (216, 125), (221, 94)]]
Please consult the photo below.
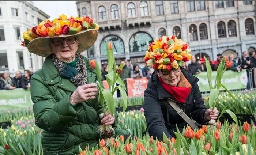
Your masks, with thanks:
[(76, 105), (81, 102), (88, 101), (90, 99), (95, 99), (95, 95), (98, 94), (98, 89), (96, 87), (96, 83), (84, 84), (82, 86), (78, 86), (76, 90), (70, 96), (70, 103), (72, 105)]

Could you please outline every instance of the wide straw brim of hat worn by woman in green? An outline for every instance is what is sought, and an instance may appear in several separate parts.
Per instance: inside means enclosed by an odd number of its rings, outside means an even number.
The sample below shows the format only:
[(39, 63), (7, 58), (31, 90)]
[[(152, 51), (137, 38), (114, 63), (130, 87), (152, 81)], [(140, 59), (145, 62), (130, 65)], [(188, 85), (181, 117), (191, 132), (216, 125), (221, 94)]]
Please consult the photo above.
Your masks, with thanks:
[(34, 53), (42, 57), (47, 57), (52, 54), (52, 50), (50, 48), (50, 41), (52, 38), (66, 38), (69, 36), (75, 36), (79, 41), (78, 49), (76, 52), (81, 53), (93, 46), (98, 37), (98, 31), (95, 29), (87, 29), (85, 31), (82, 30), (79, 33), (70, 35), (61, 34), (55, 35), (53, 37), (38, 37), (29, 42), (27, 49), (30, 53)]

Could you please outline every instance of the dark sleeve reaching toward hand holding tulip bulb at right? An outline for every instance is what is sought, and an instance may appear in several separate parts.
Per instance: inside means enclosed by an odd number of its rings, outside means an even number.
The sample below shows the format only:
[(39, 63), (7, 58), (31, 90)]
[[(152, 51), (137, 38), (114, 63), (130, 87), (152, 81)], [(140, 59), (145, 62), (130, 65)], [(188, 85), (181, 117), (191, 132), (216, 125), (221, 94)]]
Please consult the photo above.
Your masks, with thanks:
[(202, 95), (199, 91), (198, 84), (196, 83), (194, 86), (195, 87), (192, 88), (194, 106), (193, 106), (191, 116), (192, 116), (193, 120), (195, 120), (197, 123), (206, 124), (207, 122), (204, 118), (204, 113), (206, 111), (206, 106), (204, 105), (204, 101), (203, 101)]

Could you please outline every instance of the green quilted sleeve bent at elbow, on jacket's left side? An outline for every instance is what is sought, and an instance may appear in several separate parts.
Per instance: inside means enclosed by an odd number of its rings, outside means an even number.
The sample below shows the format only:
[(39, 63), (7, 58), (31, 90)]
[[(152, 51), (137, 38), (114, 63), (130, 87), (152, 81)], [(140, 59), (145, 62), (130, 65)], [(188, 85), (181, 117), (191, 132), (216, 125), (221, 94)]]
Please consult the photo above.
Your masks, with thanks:
[(35, 124), (48, 132), (61, 131), (76, 116), (76, 111), (69, 104), (72, 93), (57, 102), (41, 81), (43, 80), (33, 77), (31, 79), (31, 99), (34, 102)]

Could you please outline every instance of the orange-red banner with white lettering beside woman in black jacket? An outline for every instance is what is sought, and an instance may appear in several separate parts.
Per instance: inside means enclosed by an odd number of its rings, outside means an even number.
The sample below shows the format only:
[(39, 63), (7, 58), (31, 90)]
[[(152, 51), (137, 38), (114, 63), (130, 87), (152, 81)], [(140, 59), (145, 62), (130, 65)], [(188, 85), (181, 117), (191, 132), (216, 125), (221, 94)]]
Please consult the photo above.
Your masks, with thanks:
[(126, 79), (128, 96), (143, 96), (147, 88), (147, 77)]

